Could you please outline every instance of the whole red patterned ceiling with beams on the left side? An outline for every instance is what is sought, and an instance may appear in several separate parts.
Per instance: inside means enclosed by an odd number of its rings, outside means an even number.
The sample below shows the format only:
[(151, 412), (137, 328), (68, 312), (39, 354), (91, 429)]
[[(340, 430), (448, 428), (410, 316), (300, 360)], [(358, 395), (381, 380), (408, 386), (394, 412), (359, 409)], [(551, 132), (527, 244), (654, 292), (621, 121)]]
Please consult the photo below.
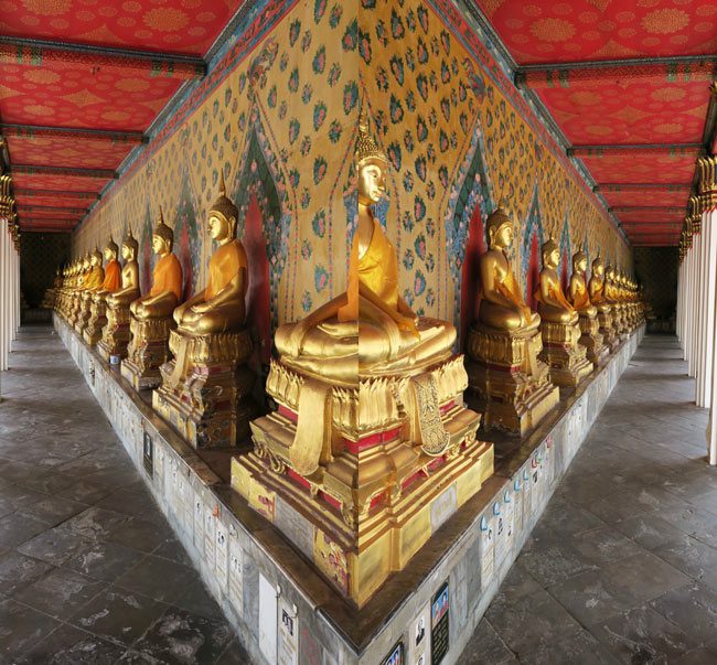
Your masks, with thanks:
[(82, 215), (66, 208), (86, 211), (96, 196), (66, 194), (100, 192), (108, 176), (18, 167), (116, 171), (182, 83), (202, 75), (202, 57), (245, 1), (0, 0), (0, 133), (21, 228), (38, 217), (73, 228)]

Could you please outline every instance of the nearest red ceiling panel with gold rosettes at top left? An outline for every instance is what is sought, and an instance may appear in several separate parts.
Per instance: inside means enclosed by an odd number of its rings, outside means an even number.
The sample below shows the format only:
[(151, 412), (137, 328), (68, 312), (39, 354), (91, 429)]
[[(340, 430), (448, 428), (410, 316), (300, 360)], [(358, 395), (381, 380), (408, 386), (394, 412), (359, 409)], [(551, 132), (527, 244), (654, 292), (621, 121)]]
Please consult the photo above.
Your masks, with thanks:
[(240, 0), (2, 0), (0, 34), (204, 55)]

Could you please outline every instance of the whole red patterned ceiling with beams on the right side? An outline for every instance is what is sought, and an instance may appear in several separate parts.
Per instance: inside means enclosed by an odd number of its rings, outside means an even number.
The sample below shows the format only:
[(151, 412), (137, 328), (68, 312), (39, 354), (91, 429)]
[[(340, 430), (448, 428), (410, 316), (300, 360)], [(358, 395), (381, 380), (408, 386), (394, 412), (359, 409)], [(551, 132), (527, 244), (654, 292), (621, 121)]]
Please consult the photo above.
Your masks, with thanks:
[[(478, 4), (516, 61), (520, 84), (543, 101), (608, 205), (620, 208), (613, 215), (628, 237), (676, 245), (704, 140), (714, 62), (675, 58), (717, 52), (717, 2)], [(627, 186), (608, 186), (618, 183)], [(649, 186), (655, 184), (681, 186)], [(665, 210), (630, 210), (645, 205)], [(675, 206), (684, 212), (666, 210)]]

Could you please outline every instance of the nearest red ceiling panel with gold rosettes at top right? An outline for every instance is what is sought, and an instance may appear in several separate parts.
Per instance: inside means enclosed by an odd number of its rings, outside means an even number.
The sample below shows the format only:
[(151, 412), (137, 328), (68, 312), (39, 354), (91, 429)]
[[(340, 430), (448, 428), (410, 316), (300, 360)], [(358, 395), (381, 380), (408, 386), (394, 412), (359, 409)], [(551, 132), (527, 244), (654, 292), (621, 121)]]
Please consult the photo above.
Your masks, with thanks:
[(713, 54), (714, 0), (478, 0), (521, 64)]

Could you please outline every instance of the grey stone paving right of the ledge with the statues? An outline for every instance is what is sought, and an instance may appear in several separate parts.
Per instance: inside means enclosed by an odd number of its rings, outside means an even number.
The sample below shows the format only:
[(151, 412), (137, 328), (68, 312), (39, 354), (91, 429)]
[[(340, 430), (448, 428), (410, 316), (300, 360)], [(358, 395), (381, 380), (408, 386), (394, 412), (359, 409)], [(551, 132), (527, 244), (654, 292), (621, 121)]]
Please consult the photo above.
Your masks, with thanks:
[(681, 357), (645, 337), (459, 663), (717, 663), (717, 469)]

